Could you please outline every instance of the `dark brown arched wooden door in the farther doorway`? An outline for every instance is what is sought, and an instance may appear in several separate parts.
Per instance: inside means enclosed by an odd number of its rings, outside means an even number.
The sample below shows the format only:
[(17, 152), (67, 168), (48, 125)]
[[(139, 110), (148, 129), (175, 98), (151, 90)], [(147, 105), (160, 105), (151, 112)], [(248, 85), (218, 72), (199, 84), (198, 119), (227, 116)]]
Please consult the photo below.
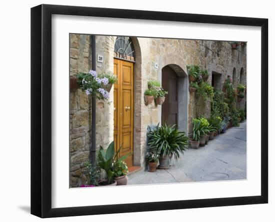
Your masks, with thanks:
[(161, 107), (161, 123), (174, 125), (178, 121), (178, 76), (169, 66), (163, 67), (161, 71), (162, 88), (168, 91)]

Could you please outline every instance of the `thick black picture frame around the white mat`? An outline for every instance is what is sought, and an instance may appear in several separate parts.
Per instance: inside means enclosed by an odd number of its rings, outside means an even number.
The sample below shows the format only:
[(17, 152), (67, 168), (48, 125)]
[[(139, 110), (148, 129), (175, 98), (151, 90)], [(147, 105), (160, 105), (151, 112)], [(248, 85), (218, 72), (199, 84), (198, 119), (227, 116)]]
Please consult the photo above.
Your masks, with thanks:
[[(261, 195), (51, 207), (51, 15), (261, 27)], [(229, 206), (268, 202), (268, 20), (121, 9), (39, 5), (31, 9), (31, 214), (39, 217)]]

